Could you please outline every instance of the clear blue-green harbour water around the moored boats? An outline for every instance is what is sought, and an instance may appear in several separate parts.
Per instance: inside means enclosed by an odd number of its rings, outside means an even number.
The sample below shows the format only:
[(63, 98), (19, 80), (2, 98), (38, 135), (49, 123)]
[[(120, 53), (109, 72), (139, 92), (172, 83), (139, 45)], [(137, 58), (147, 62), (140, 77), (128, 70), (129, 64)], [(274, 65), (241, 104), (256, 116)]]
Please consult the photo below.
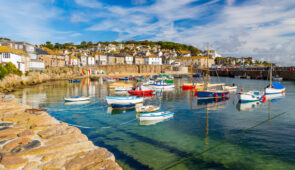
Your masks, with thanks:
[[(189, 80), (175, 79), (175, 91), (145, 100), (175, 112), (173, 119), (154, 125), (141, 125), (132, 109), (111, 111), (104, 98), (114, 94), (107, 84), (98, 82), (48, 82), (18, 90), (15, 95), (80, 128), (96, 145), (113, 152), (124, 169), (295, 169), (295, 82), (283, 82), (287, 93), (280, 99), (239, 104), (234, 94), (225, 101), (200, 102), (178, 87), (185, 81)], [(267, 85), (263, 80), (220, 81), (246, 91)], [(75, 95), (92, 98), (89, 103), (65, 105), (64, 96)], [(286, 113), (270, 120), (282, 112)], [(189, 159), (182, 161), (184, 158)]]

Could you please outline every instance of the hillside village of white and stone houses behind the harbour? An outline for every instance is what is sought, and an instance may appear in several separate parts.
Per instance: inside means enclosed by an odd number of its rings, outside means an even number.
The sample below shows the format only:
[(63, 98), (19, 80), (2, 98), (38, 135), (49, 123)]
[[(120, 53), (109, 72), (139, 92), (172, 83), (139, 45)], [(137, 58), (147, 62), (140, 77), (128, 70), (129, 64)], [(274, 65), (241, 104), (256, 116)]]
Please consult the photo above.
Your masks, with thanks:
[[(136, 42), (97, 44), (82, 42), (80, 45), (68, 43), (66, 47), (62, 47), (58, 43), (55, 46), (50, 42), (37, 46), (24, 41), (0, 39), (0, 63), (12, 62), (23, 73), (31, 70), (44, 70), (47, 67), (118, 64), (205, 68), (207, 65), (206, 56), (207, 52), (199, 49), (192, 52), (162, 48), (160, 45), (154, 44), (142, 45)], [(252, 57), (222, 57), (215, 50), (209, 51), (209, 67), (250, 66), (253, 64), (261, 64), (261, 62), (255, 61)]]

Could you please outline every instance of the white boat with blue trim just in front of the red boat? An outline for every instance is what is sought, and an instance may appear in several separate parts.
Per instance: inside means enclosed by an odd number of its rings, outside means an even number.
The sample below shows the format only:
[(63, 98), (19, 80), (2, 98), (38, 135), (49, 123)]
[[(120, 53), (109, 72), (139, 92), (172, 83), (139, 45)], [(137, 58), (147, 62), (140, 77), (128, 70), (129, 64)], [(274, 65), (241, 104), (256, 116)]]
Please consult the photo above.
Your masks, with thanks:
[(111, 104), (136, 104), (136, 103), (142, 103), (143, 97), (137, 97), (137, 96), (123, 96), (123, 97), (110, 97), (106, 96), (106, 100), (109, 105)]

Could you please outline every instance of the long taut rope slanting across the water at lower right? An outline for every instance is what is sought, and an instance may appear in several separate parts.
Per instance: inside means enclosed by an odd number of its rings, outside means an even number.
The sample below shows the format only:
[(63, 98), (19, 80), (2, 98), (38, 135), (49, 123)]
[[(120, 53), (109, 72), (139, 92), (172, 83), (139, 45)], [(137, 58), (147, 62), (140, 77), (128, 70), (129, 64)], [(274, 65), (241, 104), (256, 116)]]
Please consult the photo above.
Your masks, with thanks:
[(221, 141), (220, 143), (218, 143), (218, 144), (216, 144), (216, 145), (214, 145), (214, 146), (212, 146), (212, 147), (210, 147), (210, 148), (208, 148), (208, 149), (205, 149), (205, 150), (202, 151), (202, 152), (195, 153), (195, 154), (193, 154), (192, 156), (189, 156), (189, 157), (187, 157), (187, 158), (180, 159), (179, 161), (173, 162), (172, 164), (169, 164), (169, 165), (167, 165), (167, 166), (165, 166), (165, 167), (163, 167), (163, 168), (160, 168), (160, 169), (171, 169), (171, 168), (173, 168), (173, 167), (175, 167), (175, 166), (177, 166), (177, 165), (179, 165), (179, 164), (181, 164), (181, 163), (183, 163), (183, 162), (186, 162), (186, 161), (188, 161), (188, 160), (190, 160), (190, 159), (192, 159), (192, 158), (195, 158), (195, 157), (197, 157), (197, 156), (201, 156), (201, 155), (203, 155), (204, 153), (206, 153), (206, 152), (208, 152), (208, 151), (211, 151), (211, 150), (217, 148), (218, 146), (223, 145), (223, 144), (225, 144), (225, 143), (227, 143), (227, 142), (229, 142), (229, 141), (231, 141), (231, 140), (233, 140), (233, 139), (235, 139), (235, 138), (237, 138), (237, 137), (239, 137), (239, 136), (245, 134), (245, 133), (248, 132), (249, 130), (252, 130), (252, 129), (254, 129), (254, 128), (256, 128), (256, 127), (258, 127), (258, 126), (260, 126), (260, 125), (262, 125), (262, 124), (264, 124), (264, 123), (267, 123), (267, 122), (270, 121), (270, 120), (273, 120), (273, 119), (275, 119), (275, 118), (277, 118), (277, 117), (279, 117), (279, 116), (282, 116), (282, 115), (285, 114), (285, 113), (287, 113), (287, 112), (282, 112), (282, 113), (280, 113), (280, 114), (277, 114), (277, 115), (271, 117), (270, 119), (266, 119), (266, 120), (264, 120), (264, 121), (262, 121), (262, 122), (260, 122), (260, 123), (258, 123), (258, 124), (256, 124), (256, 125), (252, 126), (252, 127), (249, 127), (249, 128), (247, 128), (247, 129), (243, 130), (242, 132), (240, 132), (240, 133), (238, 133), (238, 134), (236, 134), (236, 135), (234, 135), (234, 136), (231, 136), (231, 137), (229, 137), (229, 138), (227, 138), (227, 139)]

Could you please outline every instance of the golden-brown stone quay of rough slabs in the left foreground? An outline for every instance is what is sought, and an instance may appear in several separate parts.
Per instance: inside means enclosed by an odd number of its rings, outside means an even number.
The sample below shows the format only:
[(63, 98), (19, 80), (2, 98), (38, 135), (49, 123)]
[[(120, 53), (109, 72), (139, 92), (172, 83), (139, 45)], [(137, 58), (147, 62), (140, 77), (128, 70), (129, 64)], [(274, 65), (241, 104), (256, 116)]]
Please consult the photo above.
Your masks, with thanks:
[(0, 94), (0, 169), (122, 169), (76, 128)]

